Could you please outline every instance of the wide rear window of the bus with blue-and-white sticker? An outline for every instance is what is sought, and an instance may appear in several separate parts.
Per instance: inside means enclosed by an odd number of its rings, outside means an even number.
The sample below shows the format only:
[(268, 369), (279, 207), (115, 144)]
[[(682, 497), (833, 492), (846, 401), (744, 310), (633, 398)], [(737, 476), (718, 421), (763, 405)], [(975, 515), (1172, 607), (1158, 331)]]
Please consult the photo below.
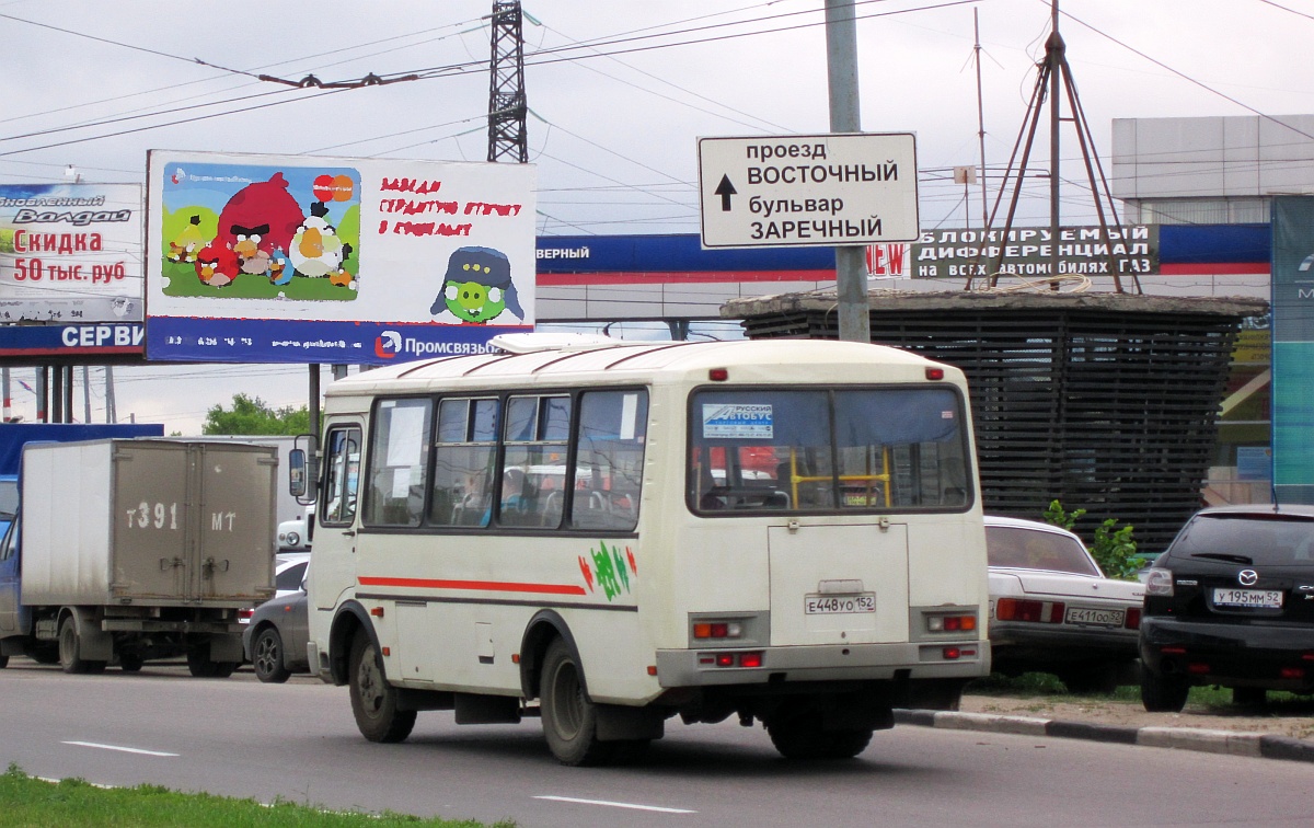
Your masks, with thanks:
[(966, 418), (953, 388), (704, 389), (690, 406), (691, 510), (963, 511)]

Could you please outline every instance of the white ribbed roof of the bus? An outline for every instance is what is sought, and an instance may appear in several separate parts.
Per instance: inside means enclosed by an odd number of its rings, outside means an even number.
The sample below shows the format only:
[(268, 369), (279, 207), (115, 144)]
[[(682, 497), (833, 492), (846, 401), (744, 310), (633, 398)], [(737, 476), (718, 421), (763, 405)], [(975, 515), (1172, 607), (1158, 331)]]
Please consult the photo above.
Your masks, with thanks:
[[(434, 386), (533, 386), (581, 380), (603, 382), (641, 382), (661, 379), (690, 379), (707, 371), (728, 368), (731, 380), (771, 381), (773, 373), (784, 375), (802, 369), (809, 380), (874, 381), (875, 367), (904, 367), (901, 381), (922, 380), (922, 368), (942, 367), (945, 379), (962, 381), (957, 368), (933, 363), (908, 351), (858, 342), (832, 339), (737, 339), (729, 342), (635, 342), (615, 344), (591, 340), (586, 347), (533, 348), (522, 340), (523, 352), (494, 352), (468, 356), (445, 356), (415, 360), (365, 371), (332, 382), (326, 394), (353, 396), (378, 392), (417, 392)], [(828, 375), (817, 375), (817, 367)], [(753, 368), (741, 371), (736, 368)], [(903, 372), (899, 372), (903, 373)], [(840, 376), (844, 375), (844, 376)], [(783, 379), (783, 377), (782, 377)]]

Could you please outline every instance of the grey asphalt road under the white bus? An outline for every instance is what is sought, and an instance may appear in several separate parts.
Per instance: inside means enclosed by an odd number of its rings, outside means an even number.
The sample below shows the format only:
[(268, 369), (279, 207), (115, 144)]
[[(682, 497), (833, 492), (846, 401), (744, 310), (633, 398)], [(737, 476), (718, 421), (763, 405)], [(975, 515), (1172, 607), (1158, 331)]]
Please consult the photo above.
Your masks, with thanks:
[(176, 666), (0, 670), (0, 764), (104, 785), (540, 825), (1201, 825), (1314, 823), (1314, 765), (899, 727), (855, 761), (795, 765), (761, 728), (668, 723), (635, 768), (553, 762), (537, 720), (420, 714), (399, 745), (356, 732), (342, 687), (194, 679)]

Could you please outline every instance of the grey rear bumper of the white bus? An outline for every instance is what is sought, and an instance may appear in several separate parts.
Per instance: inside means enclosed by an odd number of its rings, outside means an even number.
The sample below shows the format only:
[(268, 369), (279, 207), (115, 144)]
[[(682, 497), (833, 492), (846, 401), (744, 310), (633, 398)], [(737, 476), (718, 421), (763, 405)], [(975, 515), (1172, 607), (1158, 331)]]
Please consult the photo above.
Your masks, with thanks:
[(989, 674), (989, 641), (975, 639), (934, 644), (657, 651), (657, 682), (665, 689), (817, 681), (979, 678), (987, 674)]

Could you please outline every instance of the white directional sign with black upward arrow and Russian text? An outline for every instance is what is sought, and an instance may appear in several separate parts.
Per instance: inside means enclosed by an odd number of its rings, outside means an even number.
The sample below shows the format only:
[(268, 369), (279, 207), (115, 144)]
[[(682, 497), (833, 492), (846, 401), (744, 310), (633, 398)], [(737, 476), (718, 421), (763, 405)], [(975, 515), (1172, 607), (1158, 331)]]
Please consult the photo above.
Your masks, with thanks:
[(911, 133), (699, 138), (703, 247), (913, 242)]

